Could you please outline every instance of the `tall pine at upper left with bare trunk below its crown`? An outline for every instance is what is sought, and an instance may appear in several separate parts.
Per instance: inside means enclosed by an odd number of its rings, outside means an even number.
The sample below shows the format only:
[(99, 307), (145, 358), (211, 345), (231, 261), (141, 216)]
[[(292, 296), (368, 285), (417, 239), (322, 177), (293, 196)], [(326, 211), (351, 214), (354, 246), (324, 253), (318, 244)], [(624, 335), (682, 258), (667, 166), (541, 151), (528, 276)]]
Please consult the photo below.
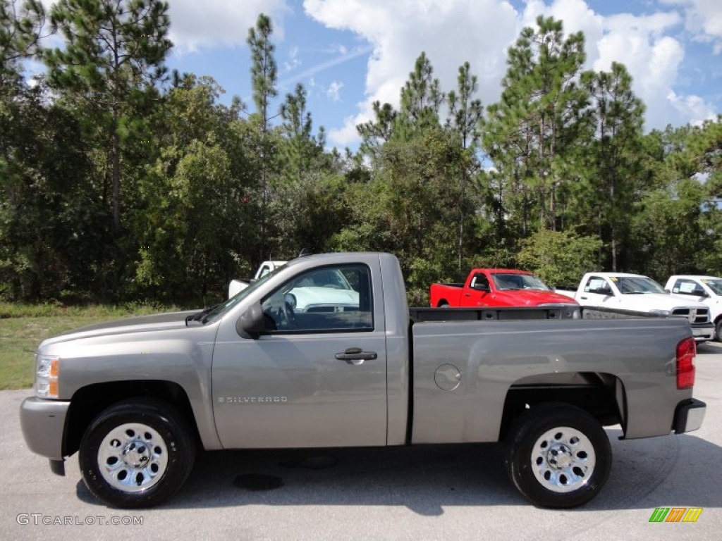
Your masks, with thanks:
[[(51, 11), (62, 48), (43, 59), (51, 86), (87, 110), (98, 149), (110, 161), (113, 229), (121, 226), (123, 145), (149, 137), (144, 116), (158, 98), (170, 50), (168, 4), (158, 0), (61, 0)], [(103, 190), (105, 192), (105, 189)]]

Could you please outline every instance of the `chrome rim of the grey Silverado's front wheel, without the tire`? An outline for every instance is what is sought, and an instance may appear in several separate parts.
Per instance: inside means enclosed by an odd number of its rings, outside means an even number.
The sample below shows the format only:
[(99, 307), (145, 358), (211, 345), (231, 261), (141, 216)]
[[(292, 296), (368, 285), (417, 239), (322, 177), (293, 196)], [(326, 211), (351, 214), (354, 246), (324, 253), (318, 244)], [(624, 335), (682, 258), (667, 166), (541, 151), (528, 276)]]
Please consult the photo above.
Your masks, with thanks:
[(168, 444), (143, 423), (126, 423), (103, 438), (97, 452), (100, 475), (119, 491), (136, 493), (156, 485), (168, 468)]

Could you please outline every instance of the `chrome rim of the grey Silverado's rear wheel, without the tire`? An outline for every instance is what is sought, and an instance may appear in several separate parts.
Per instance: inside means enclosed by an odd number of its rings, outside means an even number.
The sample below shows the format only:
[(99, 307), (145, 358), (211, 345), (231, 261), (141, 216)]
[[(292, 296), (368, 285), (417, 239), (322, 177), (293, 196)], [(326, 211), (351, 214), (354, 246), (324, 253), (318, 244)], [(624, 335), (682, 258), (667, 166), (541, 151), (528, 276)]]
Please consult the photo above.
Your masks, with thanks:
[(531, 469), (544, 488), (556, 493), (578, 490), (588, 483), (596, 465), (591, 441), (569, 426), (542, 434), (531, 452)]

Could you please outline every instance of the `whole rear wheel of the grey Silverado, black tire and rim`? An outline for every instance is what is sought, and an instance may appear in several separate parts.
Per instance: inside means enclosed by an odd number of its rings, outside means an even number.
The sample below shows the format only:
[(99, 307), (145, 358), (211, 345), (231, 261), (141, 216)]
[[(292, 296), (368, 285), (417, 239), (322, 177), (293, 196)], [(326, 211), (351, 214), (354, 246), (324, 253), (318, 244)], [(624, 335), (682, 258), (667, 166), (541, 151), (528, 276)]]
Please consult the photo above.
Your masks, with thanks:
[(564, 509), (599, 493), (612, 467), (604, 428), (566, 404), (522, 413), (506, 438), (504, 462), (516, 488), (536, 505)]

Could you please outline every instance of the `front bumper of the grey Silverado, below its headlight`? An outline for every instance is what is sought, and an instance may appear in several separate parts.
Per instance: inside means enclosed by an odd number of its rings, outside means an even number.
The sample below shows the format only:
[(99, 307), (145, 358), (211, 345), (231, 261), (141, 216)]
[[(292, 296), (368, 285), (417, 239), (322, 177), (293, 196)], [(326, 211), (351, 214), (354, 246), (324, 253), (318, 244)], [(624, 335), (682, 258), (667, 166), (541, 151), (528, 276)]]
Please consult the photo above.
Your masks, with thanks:
[(63, 434), (70, 403), (30, 397), (20, 405), (20, 426), (30, 451), (63, 460)]

